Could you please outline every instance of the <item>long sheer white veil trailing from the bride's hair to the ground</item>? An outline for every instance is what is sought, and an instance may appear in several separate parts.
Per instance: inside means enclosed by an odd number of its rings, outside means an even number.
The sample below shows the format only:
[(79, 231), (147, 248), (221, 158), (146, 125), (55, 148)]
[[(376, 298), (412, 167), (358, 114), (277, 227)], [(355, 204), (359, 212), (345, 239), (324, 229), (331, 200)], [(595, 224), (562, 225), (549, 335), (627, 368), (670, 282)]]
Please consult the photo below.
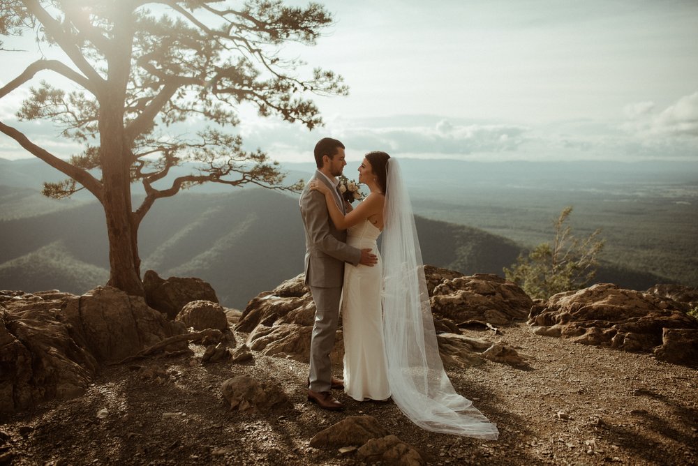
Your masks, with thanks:
[(410, 198), (399, 164), (387, 163), (383, 240), (383, 320), (392, 398), (417, 426), (496, 439), (473, 403), (454, 390), (441, 362)]

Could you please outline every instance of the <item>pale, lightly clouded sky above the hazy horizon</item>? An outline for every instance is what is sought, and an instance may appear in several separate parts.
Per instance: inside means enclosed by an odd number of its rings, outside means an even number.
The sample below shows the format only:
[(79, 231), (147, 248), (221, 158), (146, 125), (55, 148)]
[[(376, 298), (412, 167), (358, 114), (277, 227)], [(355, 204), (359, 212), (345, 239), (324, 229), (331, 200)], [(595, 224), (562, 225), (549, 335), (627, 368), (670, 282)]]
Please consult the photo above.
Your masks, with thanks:
[[(237, 130), (248, 149), (311, 161), (315, 142), (331, 136), (346, 144), (348, 160), (371, 150), (492, 161), (698, 160), (696, 0), (320, 3), (332, 27), (314, 47), (288, 45), (281, 54), (304, 59), (301, 74), (321, 66), (343, 75), (350, 95), (316, 96), (325, 126), (312, 132), (242, 107)], [(10, 63), (2, 83), (31, 61), (0, 53)], [(10, 126), (22, 92), (0, 100)], [(77, 149), (50, 125), (20, 124), (57, 154)], [(25, 156), (0, 137), (0, 157)]]

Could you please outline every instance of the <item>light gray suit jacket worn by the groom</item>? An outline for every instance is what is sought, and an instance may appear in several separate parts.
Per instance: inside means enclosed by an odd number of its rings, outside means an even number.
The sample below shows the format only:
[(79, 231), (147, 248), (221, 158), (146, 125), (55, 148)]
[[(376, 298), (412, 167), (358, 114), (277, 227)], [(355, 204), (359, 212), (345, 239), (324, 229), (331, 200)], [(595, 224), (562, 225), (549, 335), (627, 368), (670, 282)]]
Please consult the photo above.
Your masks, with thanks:
[[(311, 179), (334, 189), (320, 172)], [(361, 250), (346, 243), (346, 230), (337, 230), (329, 218), (325, 195), (311, 191), (307, 186), (299, 200), (306, 233), (305, 283), (313, 287), (341, 287), (344, 263), (357, 265)], [(340, 208), (341, 209), (341, 208)]]

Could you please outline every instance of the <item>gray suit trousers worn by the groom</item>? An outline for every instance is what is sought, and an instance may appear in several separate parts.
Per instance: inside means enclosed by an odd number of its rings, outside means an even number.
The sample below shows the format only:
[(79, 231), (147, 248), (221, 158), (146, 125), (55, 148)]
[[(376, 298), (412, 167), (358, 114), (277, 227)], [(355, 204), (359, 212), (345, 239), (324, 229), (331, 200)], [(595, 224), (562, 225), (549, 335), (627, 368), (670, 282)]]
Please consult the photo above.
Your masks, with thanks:
[(310, 389), (329, 391), (332, 385), (329, 353), (334, 348), (342, 288), (311, 286), (310, 291), (315, 301), (315, 323), (310, 341)]

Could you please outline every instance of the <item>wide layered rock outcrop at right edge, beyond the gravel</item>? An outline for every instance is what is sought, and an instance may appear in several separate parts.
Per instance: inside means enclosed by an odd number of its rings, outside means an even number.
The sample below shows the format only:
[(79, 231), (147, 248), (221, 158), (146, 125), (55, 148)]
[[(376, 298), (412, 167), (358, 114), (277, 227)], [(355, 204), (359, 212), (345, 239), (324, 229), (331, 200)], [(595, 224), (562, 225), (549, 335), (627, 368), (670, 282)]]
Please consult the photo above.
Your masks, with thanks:
[(674, 363), (696, 364), (698, 320), (673, 299), (600, 283), (559, 293), (534, 306), (535, 333), (586, 345), (651, 352)]

